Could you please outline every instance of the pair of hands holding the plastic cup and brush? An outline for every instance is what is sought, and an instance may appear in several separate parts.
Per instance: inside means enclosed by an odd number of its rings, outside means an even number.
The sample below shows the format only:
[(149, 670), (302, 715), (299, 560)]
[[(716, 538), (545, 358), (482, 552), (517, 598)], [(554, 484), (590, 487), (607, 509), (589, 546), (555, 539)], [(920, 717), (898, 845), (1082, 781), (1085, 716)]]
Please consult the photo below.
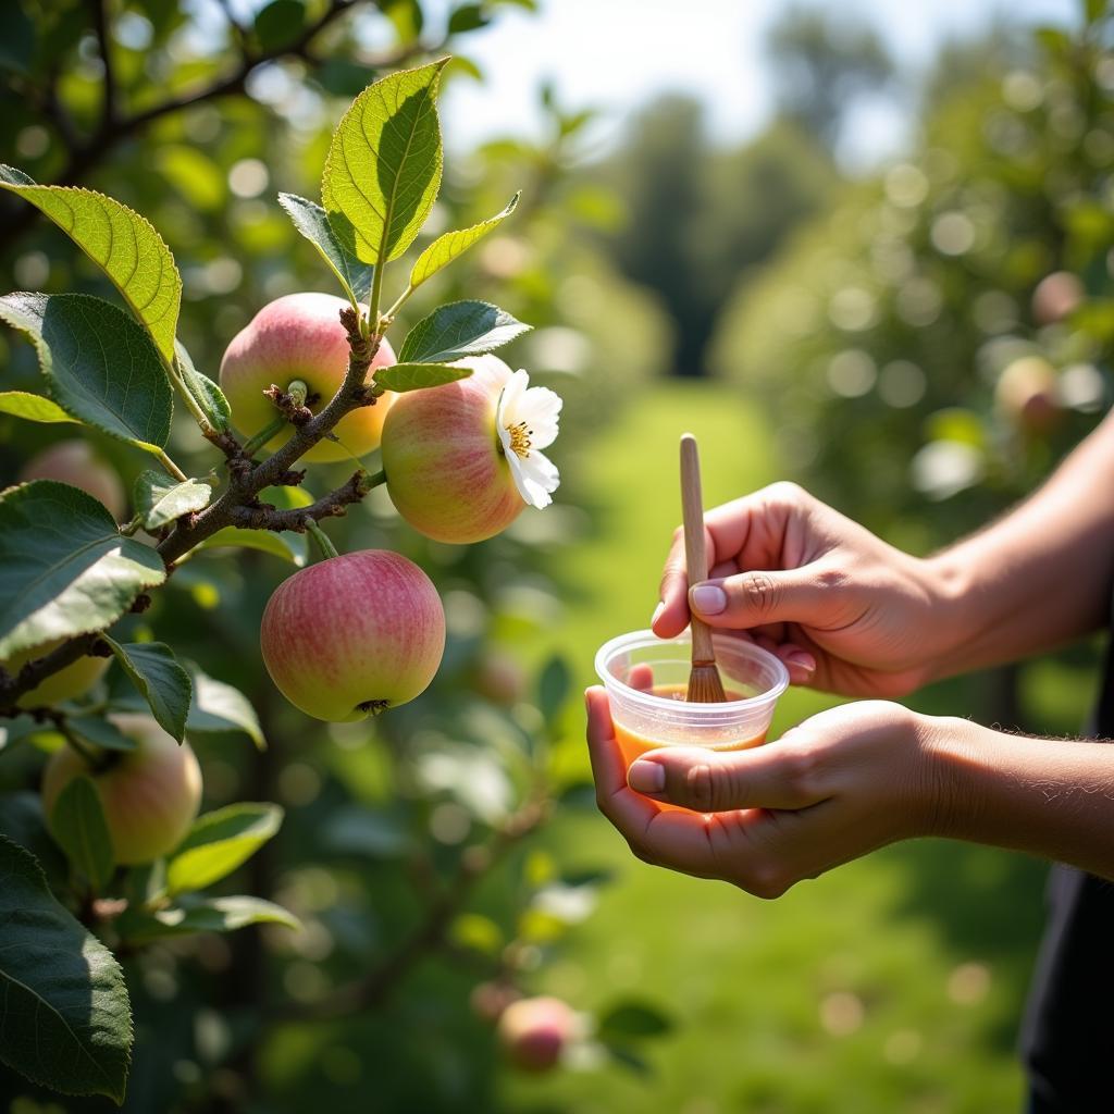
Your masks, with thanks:
[[(692, 590), (674, 538), (653, 618), (661, 637), (680, 634), (691, 608), (775, 653), (794, 684), (847, 695), (897, 696), (942, 672), (949, 602), (928, 563), (792, 483), (710, 511), (705, 530), (711, 578)], [(589, 688), (587, 704), (599, 808), (644, 861), (776, 897), (937, 828), (946, 721), (899, 704), (832, 709), (752, 750), (654, 751), (629, 773), (605, 691)]]

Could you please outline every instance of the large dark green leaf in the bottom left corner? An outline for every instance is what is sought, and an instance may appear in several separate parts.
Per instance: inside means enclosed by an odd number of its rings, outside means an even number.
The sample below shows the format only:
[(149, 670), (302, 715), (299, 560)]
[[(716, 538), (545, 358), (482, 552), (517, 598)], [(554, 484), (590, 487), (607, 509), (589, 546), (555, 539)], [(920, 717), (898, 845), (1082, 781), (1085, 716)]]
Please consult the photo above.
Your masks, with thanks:
[(65, 1095), (124, 1102), (131, 1007), (113, 954), (47, 888), (35, 858), (0, 837), (0, 1059)]

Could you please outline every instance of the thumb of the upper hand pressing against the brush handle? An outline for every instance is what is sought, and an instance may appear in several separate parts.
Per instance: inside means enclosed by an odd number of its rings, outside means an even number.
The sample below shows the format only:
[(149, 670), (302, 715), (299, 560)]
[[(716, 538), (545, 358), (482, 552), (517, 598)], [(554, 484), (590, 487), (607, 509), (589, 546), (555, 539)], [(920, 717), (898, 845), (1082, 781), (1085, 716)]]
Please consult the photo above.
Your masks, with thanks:
[(688, 589), (688, 606), (709, 626), (746, 631), (766, 623), (822, 626), (834, 596), (809, 566), (740, 573)]

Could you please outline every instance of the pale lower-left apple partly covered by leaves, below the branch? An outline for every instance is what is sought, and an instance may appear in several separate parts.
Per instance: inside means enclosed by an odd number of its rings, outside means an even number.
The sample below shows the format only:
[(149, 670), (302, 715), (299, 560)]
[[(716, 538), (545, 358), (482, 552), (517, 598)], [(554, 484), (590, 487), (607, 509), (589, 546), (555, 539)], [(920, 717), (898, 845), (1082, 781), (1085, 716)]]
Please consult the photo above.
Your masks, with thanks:
[(98, 751), (92, 769), (71, 746), (56, 751), (42, 776), (42, 805), (49, 818), (61, 791), (77, 776), (92, 779), (113, 838), (116, 861), (150, 862), (185, 839), (202, 802), (202, 771), (188, 743), (174, 741), (149, 715), (108, 717), (134, 739), (133, 751)]

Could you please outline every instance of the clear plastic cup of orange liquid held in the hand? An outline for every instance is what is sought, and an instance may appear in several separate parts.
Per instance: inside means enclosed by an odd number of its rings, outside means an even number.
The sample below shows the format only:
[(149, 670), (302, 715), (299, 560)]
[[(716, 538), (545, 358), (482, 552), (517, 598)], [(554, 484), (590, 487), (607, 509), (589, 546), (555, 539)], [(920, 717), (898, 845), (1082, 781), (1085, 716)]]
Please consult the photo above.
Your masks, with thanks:
[(727, 694), (722, 704), (685, 700), (692, 671), (687, 631), (676, 638), (634, 631), (599, 647), (596, 673), (610, 698), (615, 737), (628, 768), (661, 746), (737, 751), (765, 741), (789, 671), (742, 638), (713, 633), (712, 644)]

